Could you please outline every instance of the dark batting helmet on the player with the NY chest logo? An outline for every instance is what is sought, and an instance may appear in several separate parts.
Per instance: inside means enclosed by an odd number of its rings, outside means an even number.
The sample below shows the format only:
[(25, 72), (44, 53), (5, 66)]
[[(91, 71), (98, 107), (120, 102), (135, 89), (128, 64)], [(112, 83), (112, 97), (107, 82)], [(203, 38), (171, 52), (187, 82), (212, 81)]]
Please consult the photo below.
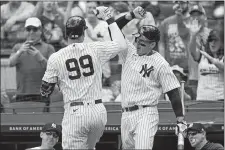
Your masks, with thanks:
[(138, 29), (139, 36), (143, 35), (150, 41), (159, 42), (160, 31), (157, 27), (153, 25), (144, 25)]

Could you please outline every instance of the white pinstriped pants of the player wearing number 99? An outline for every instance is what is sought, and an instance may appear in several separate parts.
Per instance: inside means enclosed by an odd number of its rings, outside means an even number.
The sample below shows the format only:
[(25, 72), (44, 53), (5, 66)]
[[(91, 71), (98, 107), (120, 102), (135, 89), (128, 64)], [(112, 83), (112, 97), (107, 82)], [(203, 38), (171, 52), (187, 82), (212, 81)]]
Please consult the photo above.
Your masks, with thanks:
[(68, 106), (62, 121), (62, 147), (65, 150), (95, 149), (107, 122), (105, 106)]

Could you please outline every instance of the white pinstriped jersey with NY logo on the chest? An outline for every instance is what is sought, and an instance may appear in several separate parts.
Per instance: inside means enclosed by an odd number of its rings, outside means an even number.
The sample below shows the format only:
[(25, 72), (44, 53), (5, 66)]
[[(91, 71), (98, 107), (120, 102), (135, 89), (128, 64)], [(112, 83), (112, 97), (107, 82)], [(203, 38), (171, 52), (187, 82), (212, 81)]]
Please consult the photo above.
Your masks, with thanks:
[(160, 95), (180, 87), (169, 64), (156, 51), (150, 56), (138, 56), (128, 40), (128, 51), (120, 54), (122, 60), (122, 107), (157, 105)]

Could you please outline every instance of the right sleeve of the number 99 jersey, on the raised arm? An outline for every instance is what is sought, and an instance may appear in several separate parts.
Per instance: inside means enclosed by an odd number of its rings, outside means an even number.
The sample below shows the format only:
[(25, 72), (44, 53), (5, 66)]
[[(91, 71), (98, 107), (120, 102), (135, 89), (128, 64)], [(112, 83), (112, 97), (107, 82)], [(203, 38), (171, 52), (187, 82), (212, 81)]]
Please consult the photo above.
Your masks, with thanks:
[(122, 49), (117, 42), (95, 42), (93, 45), (102, 64), (115, 57)]

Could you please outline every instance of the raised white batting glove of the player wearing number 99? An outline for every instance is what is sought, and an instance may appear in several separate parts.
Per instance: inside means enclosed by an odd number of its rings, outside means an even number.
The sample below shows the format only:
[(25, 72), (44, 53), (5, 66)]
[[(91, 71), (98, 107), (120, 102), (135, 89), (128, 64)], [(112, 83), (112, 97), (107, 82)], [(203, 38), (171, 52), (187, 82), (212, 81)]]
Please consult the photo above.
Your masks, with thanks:
[(99, 6), (96, 10), (93, 10), (94, 14), (97, 16), (98, 19), (108, 20), (112, 18), (113, 15), (109, 9), (109, 7)]

